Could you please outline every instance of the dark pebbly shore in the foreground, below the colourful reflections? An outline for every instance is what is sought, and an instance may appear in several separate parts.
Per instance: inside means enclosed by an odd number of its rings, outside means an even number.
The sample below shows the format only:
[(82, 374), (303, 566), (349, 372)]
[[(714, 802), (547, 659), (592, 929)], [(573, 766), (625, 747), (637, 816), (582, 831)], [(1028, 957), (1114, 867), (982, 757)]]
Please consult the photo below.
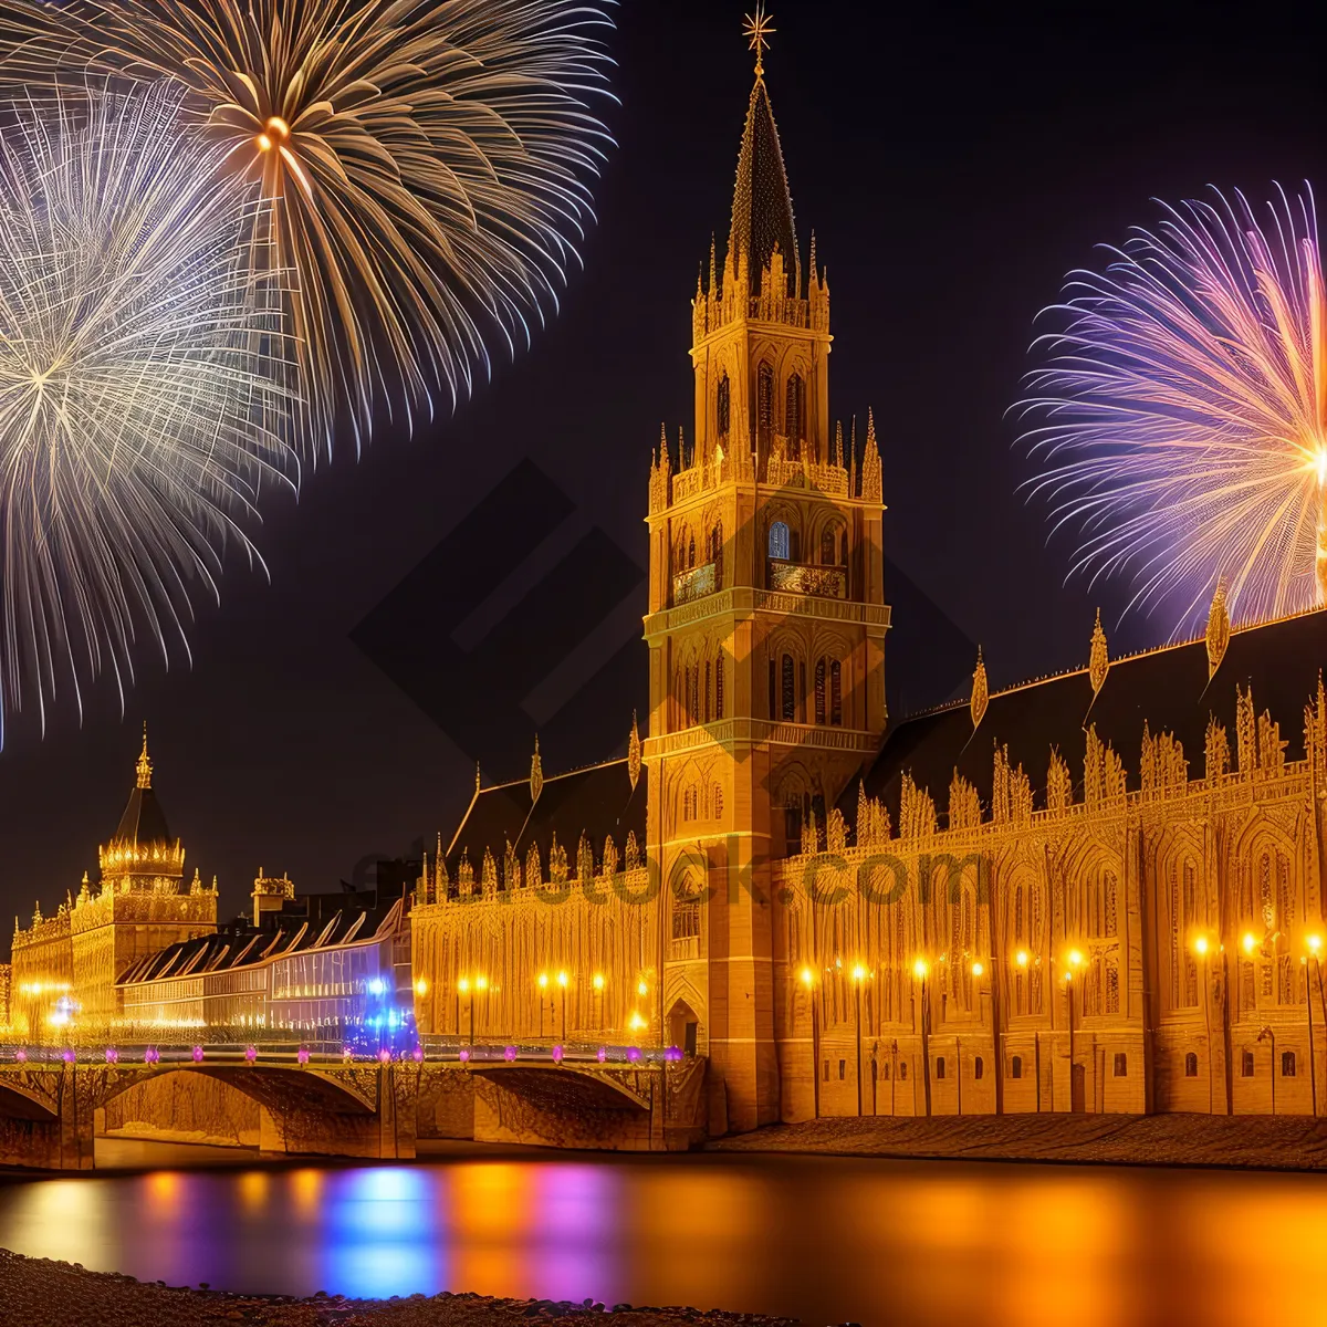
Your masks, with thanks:
[(311, 1299), (227, 1295), (145, 1285), (68, 1262), (23, 1258), (0, 1249), (0, 1324), (23, 1327), (502, 1327), (556, 1319), (564, 1327), (795, 1327), (792, 1319), (694, 1308), (569, 1304), (484, 1295), (409, 1299)]

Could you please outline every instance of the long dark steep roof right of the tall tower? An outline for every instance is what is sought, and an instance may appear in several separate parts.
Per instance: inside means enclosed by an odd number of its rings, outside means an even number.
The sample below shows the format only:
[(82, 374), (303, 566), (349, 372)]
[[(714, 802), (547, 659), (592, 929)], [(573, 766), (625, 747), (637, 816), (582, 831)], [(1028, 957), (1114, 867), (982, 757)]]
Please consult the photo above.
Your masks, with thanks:
[[(990, 805), (994, 748), (1009, 746), (1009, 759), (1022, 764), (1044, 803), (1051, 747), (1058, 747), (1082, 798), (1087, 730), (1111, 743), (1123, 758), (1129, 788), (1140, 782), (1143, 726), (1152, 734), (1174, 734), (1184, 744), (1194, 776), (1201, 776), (1208, 721), (1235, 736), (1235, 685), (1251, 686), (1257, 711), (1270, 710), (1287, 743), (1286, 758), (1303, 759), (1303, 709), (1316, 694), (1319, 670), (1327, 666), (1327, 612), (1316, 610), (1261, 626), (1237, 630), (1210, 685), (1205, 642), (1192, 641), (1115, 660), (1093, 701), (1087, 669), (991, 695), (981, 725), (973, 731), (966, 703), (950, 705), (904, 719), (888, 734), (865, 772), (867, 792), (881, 798), (897, 817), (902, 775), (936, 799), (945, 823), (949, 784), (957, 768)], [(844, 791), (840, 808), (856, 808), (856, 780)]]

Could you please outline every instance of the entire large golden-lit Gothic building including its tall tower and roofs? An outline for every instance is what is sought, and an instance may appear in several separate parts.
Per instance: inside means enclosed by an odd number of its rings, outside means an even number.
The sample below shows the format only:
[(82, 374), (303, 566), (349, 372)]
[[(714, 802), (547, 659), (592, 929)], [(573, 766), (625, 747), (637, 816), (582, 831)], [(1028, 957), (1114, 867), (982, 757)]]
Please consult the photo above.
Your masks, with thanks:
[(759, 62), (691, 313), (648, 734), (476, 784), (410, 917), (421, 1030), (675, 1044), (714, 1131), (1320, 1111), (1327, 614), (1231, 632), (1218, 591), (1205, 640), (1112, 661), (1097, 624), (1079, 671), (990, 694), (978, 660), (967, 702), (886, 722), (876, 431), (831, 427)]

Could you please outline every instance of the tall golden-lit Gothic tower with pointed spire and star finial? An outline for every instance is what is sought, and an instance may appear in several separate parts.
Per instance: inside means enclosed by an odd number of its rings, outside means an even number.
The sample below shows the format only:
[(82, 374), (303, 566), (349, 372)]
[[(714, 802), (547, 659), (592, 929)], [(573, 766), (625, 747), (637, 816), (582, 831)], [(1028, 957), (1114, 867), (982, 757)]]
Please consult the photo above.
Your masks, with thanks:
[[(722, 273), (693, 304), (695, 425), (650, 475), (649, 851), (666, 890), (665, 1036), (709, 1051), (731, 1128), (779, 1117), (771, 857), (885, 727), (880, 454), (829, 429), (829, 287), (803, 269), (756, 52)], [(809, 1058), (807, 1058), (809, 1060)]]

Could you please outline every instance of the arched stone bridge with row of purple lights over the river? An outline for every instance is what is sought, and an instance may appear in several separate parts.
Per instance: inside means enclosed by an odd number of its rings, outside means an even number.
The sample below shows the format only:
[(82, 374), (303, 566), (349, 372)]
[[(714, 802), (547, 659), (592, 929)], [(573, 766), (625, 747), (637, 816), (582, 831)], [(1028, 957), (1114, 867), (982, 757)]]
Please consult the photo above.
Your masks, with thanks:
[(705, 1135), (703, 1082), (703, 1059), (636, 1046), (0, 1046), (0, 1165), (92, 1169), (107, 1129), (196, 1139), (195, 1116), (272, 1154), (410, 1158), (442, 1137), (674, 1151)]

